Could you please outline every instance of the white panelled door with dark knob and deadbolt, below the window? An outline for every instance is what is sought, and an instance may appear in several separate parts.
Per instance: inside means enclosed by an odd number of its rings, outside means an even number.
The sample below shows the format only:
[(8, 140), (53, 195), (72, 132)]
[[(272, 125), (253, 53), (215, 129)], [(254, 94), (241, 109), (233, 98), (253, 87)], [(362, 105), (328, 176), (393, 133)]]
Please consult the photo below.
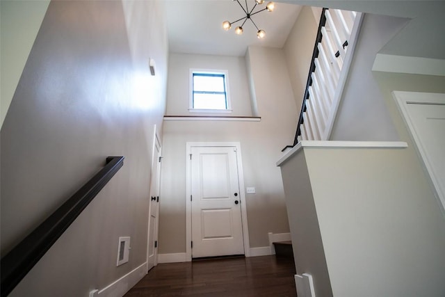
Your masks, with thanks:
[(236, 147), (191, 148), (192, 257), (243, 255)]

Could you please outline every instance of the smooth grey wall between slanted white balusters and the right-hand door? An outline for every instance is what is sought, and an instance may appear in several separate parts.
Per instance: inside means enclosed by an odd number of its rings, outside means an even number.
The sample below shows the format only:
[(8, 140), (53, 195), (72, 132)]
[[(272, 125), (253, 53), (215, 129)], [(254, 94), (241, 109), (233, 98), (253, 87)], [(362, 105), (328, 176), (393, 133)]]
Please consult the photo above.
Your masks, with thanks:
[(398, 140), (385, 100), (371, 69), (375, 55), (406, 22), (406, 19), (398, 17), (364, 15), (331, 140)]

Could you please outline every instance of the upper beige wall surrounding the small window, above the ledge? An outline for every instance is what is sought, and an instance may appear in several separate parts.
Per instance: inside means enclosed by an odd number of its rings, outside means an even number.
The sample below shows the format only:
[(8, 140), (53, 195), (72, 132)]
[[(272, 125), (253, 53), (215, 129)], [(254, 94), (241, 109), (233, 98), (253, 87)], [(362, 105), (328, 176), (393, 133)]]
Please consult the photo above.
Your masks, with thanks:
[[(229, 97), (233, 109), (229, 115), (252, 115), (244, 58), (192, 54), (170, 54), (168, 67), (168, 85), (170, 88), (168, 88), (167, 93), (167, 115), (197, 115), (197, 113), (188, 111), (190, 69), (227, 70)], [(204, 115), (204, 113), (199, 115)], [(210, 113), (210, 115), (215, 115), (215, 113)]]

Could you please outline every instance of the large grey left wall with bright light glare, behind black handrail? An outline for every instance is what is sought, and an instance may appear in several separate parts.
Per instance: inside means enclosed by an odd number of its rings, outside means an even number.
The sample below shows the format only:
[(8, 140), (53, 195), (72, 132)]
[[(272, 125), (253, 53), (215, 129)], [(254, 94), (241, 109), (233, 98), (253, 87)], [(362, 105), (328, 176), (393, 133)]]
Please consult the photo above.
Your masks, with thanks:
[[(88, 296), (146, 261), (153, 134), (165, 110), (168, 49), (159, 3), (124, 6), (51, 1), (24, 67), (1, 128), (2, 255), (106, 156), (125, 161), (11, 296)], [(150, 56), (156, 77), (149, 76)], [(131, 236), (132, 249), (129, 263), (116, 268), (119, 236)]]

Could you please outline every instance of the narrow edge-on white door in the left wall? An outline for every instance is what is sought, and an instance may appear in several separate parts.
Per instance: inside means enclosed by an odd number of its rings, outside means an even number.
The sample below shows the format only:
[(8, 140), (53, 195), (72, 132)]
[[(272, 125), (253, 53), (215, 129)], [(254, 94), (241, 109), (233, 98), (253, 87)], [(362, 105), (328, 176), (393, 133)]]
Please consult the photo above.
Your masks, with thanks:
[(152, 160), (152, 182), (150, 183), (150, 202), (148, 217), (147, 271), (157, 264), (157, 241), (159, 221), (159, 186), (161, 176), (161, 143), (157, 134), (154, 135), (154, 151)]

